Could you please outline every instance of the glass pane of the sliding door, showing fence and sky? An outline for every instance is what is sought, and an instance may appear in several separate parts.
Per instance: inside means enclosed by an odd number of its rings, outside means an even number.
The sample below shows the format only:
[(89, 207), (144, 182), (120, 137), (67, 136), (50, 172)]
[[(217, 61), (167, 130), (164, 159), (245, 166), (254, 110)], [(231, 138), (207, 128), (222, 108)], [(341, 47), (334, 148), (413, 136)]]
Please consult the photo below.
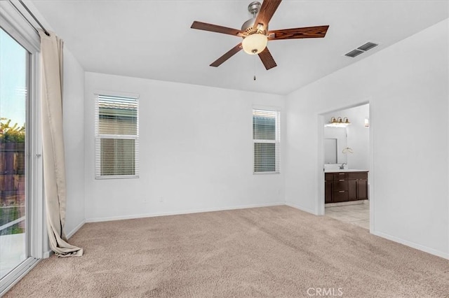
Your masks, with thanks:
[(26, 129), (29, 55), (0, 29), (0, 278), (29, 257)]

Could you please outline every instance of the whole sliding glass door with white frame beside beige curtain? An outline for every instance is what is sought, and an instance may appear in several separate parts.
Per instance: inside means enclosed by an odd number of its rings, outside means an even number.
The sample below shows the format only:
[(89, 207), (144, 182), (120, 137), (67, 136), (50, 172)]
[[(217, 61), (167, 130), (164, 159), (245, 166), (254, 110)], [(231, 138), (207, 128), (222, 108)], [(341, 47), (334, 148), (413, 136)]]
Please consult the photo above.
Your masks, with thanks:
[(48, 250), (43, 235), (39, 50), (34, 27), (0, 0), (0, 297)]

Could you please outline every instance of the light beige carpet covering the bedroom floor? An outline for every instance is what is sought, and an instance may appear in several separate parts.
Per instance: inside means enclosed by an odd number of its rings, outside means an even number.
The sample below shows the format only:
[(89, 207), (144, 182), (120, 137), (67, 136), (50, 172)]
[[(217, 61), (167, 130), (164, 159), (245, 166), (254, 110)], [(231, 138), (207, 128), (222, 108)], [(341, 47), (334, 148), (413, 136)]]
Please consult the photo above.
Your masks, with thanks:
[[(288, 206), (88, 223), (6, 297), (449, 297), (449, 261)], [(317, 295), (319, 292), (320, 295)]]

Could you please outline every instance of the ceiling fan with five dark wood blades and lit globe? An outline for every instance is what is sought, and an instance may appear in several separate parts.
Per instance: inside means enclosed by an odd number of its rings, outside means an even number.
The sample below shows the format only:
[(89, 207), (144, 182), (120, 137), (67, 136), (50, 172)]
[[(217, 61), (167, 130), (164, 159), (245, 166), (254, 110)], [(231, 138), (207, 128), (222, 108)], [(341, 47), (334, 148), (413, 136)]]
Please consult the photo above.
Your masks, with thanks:
[(243, 38), (241, 43), (226, 52), (225, 55), (222, 55), (222, 57), (216, 59), (212, 62), (212, 64), (210, 64), (210, 66), (220, 66), (223, 62), (243, 48), (243, 50), (249, 55), (259, 55), (265, 69), (269, 70), (277, 66), (277, 64), (274, 62), (272, 54), (267, 48), (268, 41), (295, 38), (321, 38), (326, 36), (326, 32), (329, 28), (328, 25), (269, 31), (269, 20), (272, 19), (272, 16), (281, 1), (282, 0), (264, 0), (262, 5), (257, 1), (251, 2), (248, 5), (248, 11), (253, 15), (253, 17), (243, 23), (241, 30), (194, 21), (191, 26), (192, 29), (212, 31)]

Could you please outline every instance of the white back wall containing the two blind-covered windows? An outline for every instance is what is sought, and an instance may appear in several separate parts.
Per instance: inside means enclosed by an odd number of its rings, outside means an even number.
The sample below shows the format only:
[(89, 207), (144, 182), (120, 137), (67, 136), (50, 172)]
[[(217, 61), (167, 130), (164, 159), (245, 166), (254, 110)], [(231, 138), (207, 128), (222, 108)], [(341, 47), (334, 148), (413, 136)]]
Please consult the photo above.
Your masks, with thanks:
[[(95, 90), (140, 94), (138, 179), (95, 180)], [(252, 140), (253, 105), (283, 97), (86, 73), (85, 99), (88, 221), (283, 204), (282, 173), (253, 175)]]

